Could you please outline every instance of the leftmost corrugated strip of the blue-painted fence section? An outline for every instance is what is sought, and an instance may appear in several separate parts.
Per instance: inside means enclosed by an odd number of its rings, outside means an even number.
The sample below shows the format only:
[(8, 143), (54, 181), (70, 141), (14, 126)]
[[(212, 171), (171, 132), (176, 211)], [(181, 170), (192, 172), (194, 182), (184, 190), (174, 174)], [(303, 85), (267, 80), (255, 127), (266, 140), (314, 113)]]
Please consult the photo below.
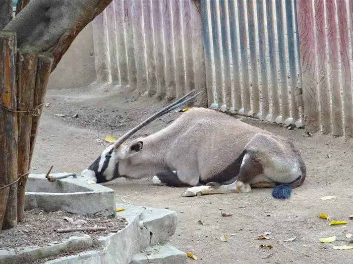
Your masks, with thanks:
[(213, 89), (213, 71), (212, 71), (212, 56), (211, 56), (211, 40), (210, 28), (208, 19), (207, 1), (201, 0), (201, 21), (203, 35), (203, 49), (205, 57), (205, 72), (206, 72), (206, 87), (208, 106), (214, 106), (214, 89)]

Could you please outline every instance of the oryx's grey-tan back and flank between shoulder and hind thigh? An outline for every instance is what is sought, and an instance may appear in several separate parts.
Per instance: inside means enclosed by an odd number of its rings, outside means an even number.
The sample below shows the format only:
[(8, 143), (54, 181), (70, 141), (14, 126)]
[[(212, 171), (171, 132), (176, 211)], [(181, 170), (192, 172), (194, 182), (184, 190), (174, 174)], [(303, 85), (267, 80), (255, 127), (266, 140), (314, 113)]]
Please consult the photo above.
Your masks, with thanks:
[(256, 133), (265, 132), (207, 108), (191, 108), (172, 127), (178, 136), (170, 159), (179, 163), (177, 167), (196, 167), (202, 179), (222, 172), (241, 155)]

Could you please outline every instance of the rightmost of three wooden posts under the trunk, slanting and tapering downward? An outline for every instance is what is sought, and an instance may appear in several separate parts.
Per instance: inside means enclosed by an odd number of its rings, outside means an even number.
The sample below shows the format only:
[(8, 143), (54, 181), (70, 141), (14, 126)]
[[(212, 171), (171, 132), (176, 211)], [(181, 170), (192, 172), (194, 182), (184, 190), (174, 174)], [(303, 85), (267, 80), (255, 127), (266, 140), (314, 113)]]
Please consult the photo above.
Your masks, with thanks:
[(39, 106), (38, 109), (40, 112), (39, 112), (39, 116), (32, 117), (29, 164), (31, 164), (31, 161), (32, 161), (34, 145), (36, 143), (36, 137), (37, 137), (37, 129), (39, 126), (39, 120), (42, 116), (44, 98), (45, 98), (45, 95), (47, 94), (49, 75), (52, 71), (53, 62), (54, 62), (54, 57), (51, 53), (48, 53), (48, 52), (39, 53), (33, 105)]

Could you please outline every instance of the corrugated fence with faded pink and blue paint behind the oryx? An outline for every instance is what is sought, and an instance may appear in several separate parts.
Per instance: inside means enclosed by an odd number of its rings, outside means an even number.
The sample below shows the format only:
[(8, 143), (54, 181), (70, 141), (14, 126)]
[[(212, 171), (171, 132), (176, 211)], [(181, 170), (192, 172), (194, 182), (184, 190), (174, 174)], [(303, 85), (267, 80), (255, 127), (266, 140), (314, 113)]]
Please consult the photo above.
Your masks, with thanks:
[(352, 136), (352, 15), (345, 0), (113, 0), (93, 21), (97, 79)]

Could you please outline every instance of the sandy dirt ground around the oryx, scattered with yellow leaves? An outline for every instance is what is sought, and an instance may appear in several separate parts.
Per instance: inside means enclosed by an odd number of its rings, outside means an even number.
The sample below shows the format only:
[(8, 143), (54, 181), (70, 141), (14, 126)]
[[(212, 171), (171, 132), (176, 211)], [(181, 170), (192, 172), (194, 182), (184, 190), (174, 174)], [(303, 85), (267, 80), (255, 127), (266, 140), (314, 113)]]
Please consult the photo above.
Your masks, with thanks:
[[(50, 106), (44, 109), (41, 119), (31, 173), (46, 173), (51, 165), (54, 173), (81, 173), (106, 147), (95, 139), (104, 140), (107, 134), (118, 137), (168, 103), (145, 97), (127, 102), (125, 97), (134, 94), (118, 88), (108, 90), (112, 89), (49, 91), (46, 102)], [(76, 113), (78, 118), (71, 117)], [(179, 115), (173, 112), (156, 120), (136, 136), (156, 132)], [(178, 225), (171, 242), (196, 255), (197, 263), (351, 263), (353, 250), (334, 250), (333, 246), (353, 245), (346, 237), (353, 233), (353, 220), (349, 220), (353, 215), (352, 141), (320, 133), (303, 136), (303, 130), (247, 118), (243, 121), (287, 137), (299, 148), (307, 177), (301, 187), (293, 190), (291, 199), (275, 200), (271, 189), (186, 198), (181, 197), (185, 188), (154, 186), (151, 178), (120, 178), (105, 185), (116, 190), (118, 203), (175, 210)], [(327, 195), (337, 198), (320, 199)], [(233, 216), (222, 217), (220, 209)], [(348, 223), (330, 226), (327, 220), (317, 217), (319, 213)], [(258, 240), (257, 236), (265, 232), (271, 232), (272, 239)], [(228, 242), (219, 240), (223, 233)], [(318, 241), (333, 235), (337, 240), (332, 244)], [(292, 242), (284, 241), (293, 237), (296, 239)], [(272, 245), (273, 249), (261, 248), (261, 244)]]

